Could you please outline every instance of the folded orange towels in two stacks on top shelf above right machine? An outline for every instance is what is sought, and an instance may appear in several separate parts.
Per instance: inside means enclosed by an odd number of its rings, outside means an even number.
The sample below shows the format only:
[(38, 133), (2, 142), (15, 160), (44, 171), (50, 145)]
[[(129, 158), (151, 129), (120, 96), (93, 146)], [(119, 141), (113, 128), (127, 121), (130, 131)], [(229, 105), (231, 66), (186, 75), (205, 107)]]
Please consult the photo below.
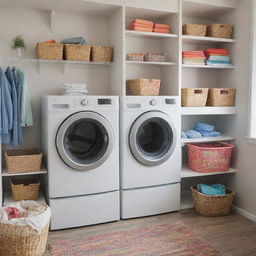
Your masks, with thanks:
[(167, 24), (154, 23), (149, 20), (134, 19), (129, 25), (130, 30), (156, 32), (156, 33), (170, 33), (170, 26)]

